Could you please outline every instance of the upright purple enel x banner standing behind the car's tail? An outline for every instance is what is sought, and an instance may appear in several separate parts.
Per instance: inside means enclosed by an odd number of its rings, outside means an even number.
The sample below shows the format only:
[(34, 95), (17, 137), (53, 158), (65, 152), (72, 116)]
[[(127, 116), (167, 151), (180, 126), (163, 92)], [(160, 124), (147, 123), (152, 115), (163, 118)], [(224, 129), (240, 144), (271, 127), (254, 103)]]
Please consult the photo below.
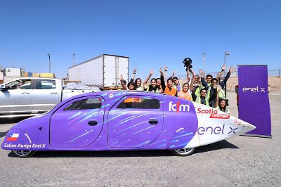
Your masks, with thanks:
[(240, 65), (239, 118), (256, 126), (248, 134), (271, 137), (267, 65)]

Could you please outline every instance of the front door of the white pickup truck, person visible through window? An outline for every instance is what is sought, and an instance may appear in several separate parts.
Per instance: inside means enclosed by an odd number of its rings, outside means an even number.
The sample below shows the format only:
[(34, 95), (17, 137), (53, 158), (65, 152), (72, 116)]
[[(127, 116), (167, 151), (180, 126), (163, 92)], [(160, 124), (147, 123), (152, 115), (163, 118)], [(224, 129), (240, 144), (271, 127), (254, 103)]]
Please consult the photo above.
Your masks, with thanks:
[(17, 79), (0, 91), (0, 115), (32, 111), (32, 79)]

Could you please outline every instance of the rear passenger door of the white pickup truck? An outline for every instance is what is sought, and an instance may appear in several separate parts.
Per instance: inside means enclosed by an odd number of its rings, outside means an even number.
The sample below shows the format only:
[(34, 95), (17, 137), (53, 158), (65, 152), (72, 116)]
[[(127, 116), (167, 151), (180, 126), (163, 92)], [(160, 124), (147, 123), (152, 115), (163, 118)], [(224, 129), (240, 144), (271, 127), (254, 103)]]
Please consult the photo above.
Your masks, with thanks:
[(32, 91), (32, 110), (44, 112), (51, 110), (60, 103), (60, 91), (58, 91), (54, 79), (36, 79)]

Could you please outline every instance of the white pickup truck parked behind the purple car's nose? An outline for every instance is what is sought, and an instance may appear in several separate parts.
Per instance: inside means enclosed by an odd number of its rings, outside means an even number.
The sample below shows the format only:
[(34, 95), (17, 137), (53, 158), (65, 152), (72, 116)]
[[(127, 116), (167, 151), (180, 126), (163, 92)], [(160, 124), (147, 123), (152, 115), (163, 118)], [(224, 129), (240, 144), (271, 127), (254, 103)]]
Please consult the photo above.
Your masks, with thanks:
[(61, 79), (22, 77), (0, 84), (0, 118), (47, 112), (72, 96), (94, 90), (63, 89)]

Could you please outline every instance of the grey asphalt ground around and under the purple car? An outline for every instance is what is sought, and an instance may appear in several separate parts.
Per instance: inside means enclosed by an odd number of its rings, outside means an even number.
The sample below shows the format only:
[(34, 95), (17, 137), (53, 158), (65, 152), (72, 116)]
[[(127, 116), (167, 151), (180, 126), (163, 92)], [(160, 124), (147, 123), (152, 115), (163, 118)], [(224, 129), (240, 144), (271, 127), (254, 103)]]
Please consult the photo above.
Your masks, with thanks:
[[(228, 93), (237, 116), (235, 94)], [(42, 152), (30, 158), (0, 150), (1, 186), (281, 186), (281, 93), (270, 93), (273, 138), (237, 136), (197, 148), (189, 157), (168, 150)], [(0, 122), (0, 142), (22, 119)]]

